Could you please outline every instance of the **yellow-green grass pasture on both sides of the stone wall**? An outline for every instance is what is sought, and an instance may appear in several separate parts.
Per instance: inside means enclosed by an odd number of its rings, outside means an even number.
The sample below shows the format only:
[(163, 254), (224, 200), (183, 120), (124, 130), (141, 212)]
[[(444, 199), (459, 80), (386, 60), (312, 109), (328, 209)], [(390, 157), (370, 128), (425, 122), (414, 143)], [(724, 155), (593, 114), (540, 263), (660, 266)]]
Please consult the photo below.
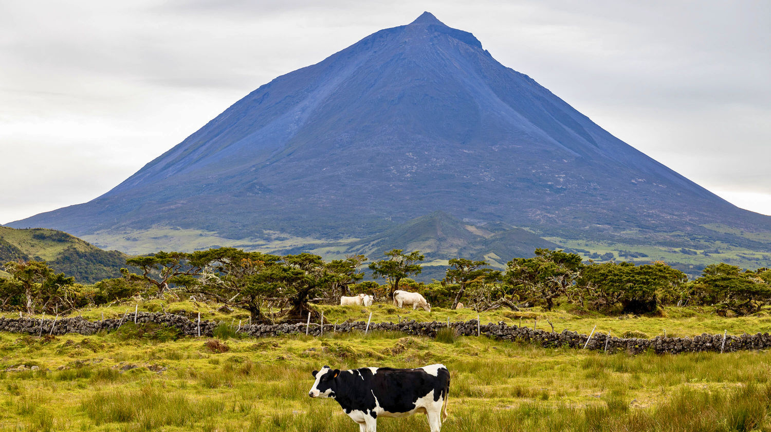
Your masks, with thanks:
[[(433, 312), (320, 306), (330, 322), (345, 319), (418, 321), (476, 318), (471, 310)], [(132, 304), (82, 311), (89, 319), (117, 316)], [(194, 302), (141, 302), (237, 322), (244, 312), (217, 312)], [(392, 310), (393, 309), (393, 310)], [(540, 309), (540, 308), (539, 308)], [(409, 313), (408, 313), (409, 312)], [(768, 331), (766, 312), (742, 319), (708, 310), (668, 308), (666, 317), (577, 316), (567, 310), (494, 311), (483, 322), (532, 324), (589, 332), (611, 329), (671, 336)], [(397, 316), (398, 315), (398, 316)], [(621, 319), (619, 319), (621, 318)], [(355, 431), (333, 400), (311, 400), (311, 370), (329, 365), (448, 366), (449, 413), (443, 431), (498, 430), (771, 430), (771, 356), (765, 352), (677, 356), (604, 354), (578, 349), (446, 337), (433, 340), (374, 332), (264, 339), (167, 340), (142, 336), (133, 323), (96, 336), (37, 338), (0, 333), (0, 432), (93, 431)], [(154, 338), (154, 339), (153, 339)], [(158, 339), (167, 340), (161, 342)], [(32, 370), (33, 366), (35, 370)], [(382, 419), (379, 430), (429, 430), (426, 417)]]

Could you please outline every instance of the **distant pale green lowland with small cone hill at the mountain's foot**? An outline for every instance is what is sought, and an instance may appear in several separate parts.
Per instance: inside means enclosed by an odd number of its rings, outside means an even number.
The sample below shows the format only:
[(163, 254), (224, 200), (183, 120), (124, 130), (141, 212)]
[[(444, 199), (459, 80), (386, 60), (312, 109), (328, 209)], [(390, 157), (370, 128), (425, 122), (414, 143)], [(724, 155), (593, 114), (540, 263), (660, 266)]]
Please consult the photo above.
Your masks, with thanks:
[(535, 248), (565, 248), (595, 262), (614, 260), (648, 264), (663, 261), (692, 277), (699, 276), (705, 266), (718, 262), (752, 269), (771, 267), (768, 236), (718, 224), (702, 228), (704, 235), (672, 232), (642, 241), (639, 232), (630, 231), (625, 238), (599, 241), (584, 239), (578, 230), (564, 231), (560, 236), (540, 237), (542, 233), (523, 228), (506, 224), (476, 226), (435, 212), (364, 239), (332, 241), (294, 237), (277, 231), (264, 231), (246, 238), (225, 238), (212, 231), (161, 227), (122, 234), (87, 235), (84, 238), (99, 247), (119, 248), (136, 255), (158, 250), (196, 251), (231, 246), (278, 254), (308, 251), (326, 260), (354, 254), (376, 260), (382, 258), (383, 251), (392, 248), (420, 250), (426, 255), (426, 262), (423, 273), (416, 280), (424, 282), (443, 278), (449, 258), (485, 259), (493, 267), (503, 268), (511, 258), (532, 256)]

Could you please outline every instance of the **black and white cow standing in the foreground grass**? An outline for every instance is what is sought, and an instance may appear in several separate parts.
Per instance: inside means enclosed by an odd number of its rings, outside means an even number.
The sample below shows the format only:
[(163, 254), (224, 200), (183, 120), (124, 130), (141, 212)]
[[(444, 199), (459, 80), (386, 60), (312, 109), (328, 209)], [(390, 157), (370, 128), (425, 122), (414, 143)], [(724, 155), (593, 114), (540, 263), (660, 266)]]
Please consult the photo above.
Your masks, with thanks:
[(360, 432), (376, 432), (378, 417), (426, 413), (431, 432), (447, 418), (449, 372), (435, 364), (417, 369), (362, 367), (354, 370), (314, 370), (310, 397), (332, 397)]

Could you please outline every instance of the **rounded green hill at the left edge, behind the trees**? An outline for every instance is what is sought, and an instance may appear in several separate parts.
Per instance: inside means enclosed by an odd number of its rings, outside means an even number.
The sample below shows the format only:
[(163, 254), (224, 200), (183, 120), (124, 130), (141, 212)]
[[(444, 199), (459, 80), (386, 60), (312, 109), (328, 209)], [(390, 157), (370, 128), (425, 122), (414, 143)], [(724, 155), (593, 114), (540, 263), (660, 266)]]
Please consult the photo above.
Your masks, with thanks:
[(0, 262), (16, 259), (44, 260), (56, 270), (75, 276), (77, 282), (93, 283), (120, 276), (128, 255), (103, 251), (66, 232), (45, 228), (0, 227)]

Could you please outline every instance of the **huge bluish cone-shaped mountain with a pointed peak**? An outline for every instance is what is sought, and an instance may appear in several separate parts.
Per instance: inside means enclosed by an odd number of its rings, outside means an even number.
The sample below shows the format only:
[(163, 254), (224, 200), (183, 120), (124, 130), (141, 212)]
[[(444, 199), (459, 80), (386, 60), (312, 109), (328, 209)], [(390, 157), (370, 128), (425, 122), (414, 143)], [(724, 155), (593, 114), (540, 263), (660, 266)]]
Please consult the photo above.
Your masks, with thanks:
[[(152, 232), (166, 227), (360, 251), (366, 242), (351, 239), (409, 244), (399, 226), (436, 211), (553, 241), (771, 249), (739, 234), (768, 233), (771, 218), (618, 140), (429, 12), (259, 87), (93, 201), (8, 226), (110, 247), (143, 232), (162, 249)], [(453, 251), (481, 256), (495, 243), (489, 231), (469, 247), (469, 232)]]

